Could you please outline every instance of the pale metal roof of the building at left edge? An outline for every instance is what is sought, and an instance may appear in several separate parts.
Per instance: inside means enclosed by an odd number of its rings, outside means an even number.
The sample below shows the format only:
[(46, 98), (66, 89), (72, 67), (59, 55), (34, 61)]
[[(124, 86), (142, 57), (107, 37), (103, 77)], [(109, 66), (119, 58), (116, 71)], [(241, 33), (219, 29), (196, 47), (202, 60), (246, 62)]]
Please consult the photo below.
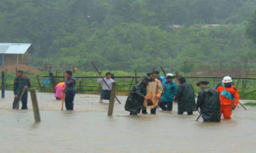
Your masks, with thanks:
[(0, 43), (0, 54), (25, 54), (31, 43)]

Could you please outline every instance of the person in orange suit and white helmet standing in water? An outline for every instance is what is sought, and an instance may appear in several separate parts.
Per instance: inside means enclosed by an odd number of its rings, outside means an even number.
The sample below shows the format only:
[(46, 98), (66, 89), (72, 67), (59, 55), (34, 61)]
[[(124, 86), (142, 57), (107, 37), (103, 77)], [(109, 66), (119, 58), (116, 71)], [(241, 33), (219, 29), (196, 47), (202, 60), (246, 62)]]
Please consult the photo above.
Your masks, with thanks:
[(236, 109), (239, 103), (239, 93), (237, 88), (232, 85), (231, 77), (224, 77), (222, 80), (222, 85), (217, 88), (220, 94), (220, 113), (225, 119), (231, 119), (232, 110)]

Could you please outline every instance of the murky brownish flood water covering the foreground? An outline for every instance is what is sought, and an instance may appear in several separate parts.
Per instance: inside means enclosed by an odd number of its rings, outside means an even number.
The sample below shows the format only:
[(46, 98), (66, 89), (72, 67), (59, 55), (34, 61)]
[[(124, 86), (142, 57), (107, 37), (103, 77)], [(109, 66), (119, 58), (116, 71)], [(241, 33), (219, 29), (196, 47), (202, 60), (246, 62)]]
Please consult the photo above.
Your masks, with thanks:
[[(0, 152), (255, 152), (256, 108), (237, 108), (232, 120), (196, 122), (192, 116), (157, 110), (130, 117), (125, 96), (118, 96), (113, 117), (99, 96), (77, 94), (74, 112), (61, 112), (54, 95), (37, 93), (42, 122), (29, 110), (12, 110), (13, 93), (0, 99)], [(244, 102), (244, 101), (243, 101)], [(150, 112), (148, 110), (148, 112)]]

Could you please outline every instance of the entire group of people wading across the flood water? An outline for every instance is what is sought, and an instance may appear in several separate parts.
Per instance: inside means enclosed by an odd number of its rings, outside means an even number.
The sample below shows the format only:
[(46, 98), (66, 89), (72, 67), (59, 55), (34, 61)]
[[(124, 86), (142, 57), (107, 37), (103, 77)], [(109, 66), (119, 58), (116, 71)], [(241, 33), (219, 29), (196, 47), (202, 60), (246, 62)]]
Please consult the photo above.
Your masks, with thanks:
[[(186, 82), (184, 77), (178, 77), (179, 85), (176, 85), (174, 78), (172, 73), (162, 77), (160, 77), (159, 71), (147, 73), (140, 82), (132, 87), (125, 103), (125, 110), (130, 112), (130, 115), (147, 114), (147, 109), (150, 109), (151, 114), (156, 114), (157, 107), (163, 111), (172, 111), (173, 101), (176, 101), (178, 115), (182, 115), (184, 112), (193, 115), (193, 112), (198, 111), (202, 114), (204, 122), (220, 122), (222, 114), (225, 119), (231, 119), (232, 110), (239, 103), (239, 92), (231, 77), (224, 77), (216, 89), (210, 87), (209, 82), (198, 82), (196, 85), (200, 87), (201, 91), (198, 92), (197, 101), (195, 101), (193, 85)], [(100, 101), (109, 99), (112, 84), (115, 82), (111, 78), (111, 73), (106, 73), (104, 78), (100, 75), (97, 82), (103, 84)], [(27, 90), (29, 87), (31, 87), (29, 78), (24, 77), (22, 70), (17, 71), (13, 89), (15, 95), (13, 109), (19, 109), (20, 101), (22, 109), (28, 109)], [(67, 110), (74, 109), (75, 87), (76, 78), (72, 77), (72, 71), (66, 71), (65, 82), (56, 85), (56, 99), (65, 98)]]

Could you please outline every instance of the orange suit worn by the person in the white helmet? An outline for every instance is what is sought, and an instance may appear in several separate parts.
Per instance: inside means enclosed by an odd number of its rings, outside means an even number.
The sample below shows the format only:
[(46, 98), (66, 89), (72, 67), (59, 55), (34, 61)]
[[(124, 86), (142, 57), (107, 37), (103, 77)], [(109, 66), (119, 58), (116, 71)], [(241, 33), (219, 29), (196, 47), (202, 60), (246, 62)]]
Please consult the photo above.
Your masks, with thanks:
[[(230, 94), (234, 96), (234, 100), (228, 99), (225, 96), (221, 96), (221, 92), (225, 91), (225, 88), (228, 92), (230, 92)], [(217, 91), (220, 94), (220, 105), (221, 105), (220, 113), (221, 115), (223, 113), (223, 117), (225, 119), (231, 119), (233, 101), (234, 101), (234, 106), (237, 106), (239, 103), (239, 93), (234, 85), (231, 85), (231, 87), (225, 87), (225, 88), (223, 87), (223, 85), (217, 88)]]

